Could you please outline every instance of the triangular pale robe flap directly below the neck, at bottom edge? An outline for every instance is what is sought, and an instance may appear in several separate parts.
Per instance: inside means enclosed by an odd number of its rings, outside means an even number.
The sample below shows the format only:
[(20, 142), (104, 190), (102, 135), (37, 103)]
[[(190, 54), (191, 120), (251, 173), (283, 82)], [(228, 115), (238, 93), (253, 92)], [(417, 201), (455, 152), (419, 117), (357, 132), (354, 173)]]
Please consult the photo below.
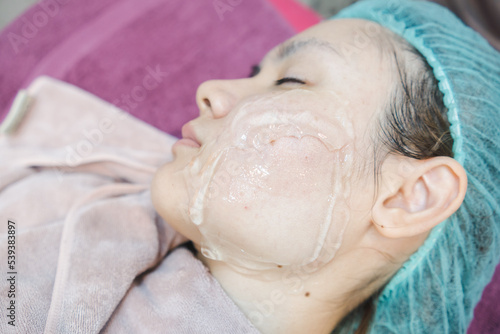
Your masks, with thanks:
[(175, 249), (136, 280), (105, 334), (258, 334), (207, 268), (185, 248)]

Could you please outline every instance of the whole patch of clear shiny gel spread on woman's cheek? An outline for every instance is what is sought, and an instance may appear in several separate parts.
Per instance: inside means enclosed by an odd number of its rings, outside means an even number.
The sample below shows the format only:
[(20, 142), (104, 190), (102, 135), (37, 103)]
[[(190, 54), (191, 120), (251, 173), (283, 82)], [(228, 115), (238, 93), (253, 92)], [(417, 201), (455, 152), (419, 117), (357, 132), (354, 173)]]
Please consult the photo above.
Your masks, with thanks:
[(316, 94), (238, 106), (184, 170), (204, 256), (251, 270), (333, 258), (349, 220), (354, 134), (347, 112)]

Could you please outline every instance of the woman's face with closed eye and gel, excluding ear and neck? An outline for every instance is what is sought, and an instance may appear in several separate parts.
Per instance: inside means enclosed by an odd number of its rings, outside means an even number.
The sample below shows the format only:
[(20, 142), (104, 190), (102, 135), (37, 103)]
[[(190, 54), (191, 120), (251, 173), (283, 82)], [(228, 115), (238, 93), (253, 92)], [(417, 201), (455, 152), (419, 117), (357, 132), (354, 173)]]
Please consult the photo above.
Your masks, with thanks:
[(373, 198), (370, 130), (392, 87), (371, 42), (380, 29), (327, 21), (256, 76), (202, 84), (200, 116), (153, 180), (160, 215), (204, 256), (246, 269), (320, 265), (355, 240)]

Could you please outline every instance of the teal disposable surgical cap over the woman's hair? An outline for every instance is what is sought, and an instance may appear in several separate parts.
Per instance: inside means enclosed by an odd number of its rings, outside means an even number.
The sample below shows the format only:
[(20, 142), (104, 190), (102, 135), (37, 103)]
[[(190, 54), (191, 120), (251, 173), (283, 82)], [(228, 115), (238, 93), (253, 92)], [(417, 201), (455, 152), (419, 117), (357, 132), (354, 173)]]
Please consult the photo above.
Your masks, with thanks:
[[(375, 21), (420, 51), (444, 94), (454, 158), (468, 177), (462, 206), (383, 289), (370, 333), (466, 333), (500, 260), (500, 54), (426, 1), (360, 1), (337, 18)], [(335, 333), (353, 332), (360, 317), (354, 312)]]

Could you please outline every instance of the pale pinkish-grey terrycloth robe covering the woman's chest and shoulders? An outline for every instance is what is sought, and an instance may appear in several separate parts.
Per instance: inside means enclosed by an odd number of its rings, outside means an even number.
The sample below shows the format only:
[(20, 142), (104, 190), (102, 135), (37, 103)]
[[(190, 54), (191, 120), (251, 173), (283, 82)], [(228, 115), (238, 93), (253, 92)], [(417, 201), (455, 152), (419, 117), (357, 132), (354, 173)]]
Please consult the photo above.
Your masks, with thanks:
[(28, 92), (19, 128), (0, 135), (0, 260), (12, 220), (17, 272), (16, 327), (4, 276), (0, 333), (257, 333), (189, 251), (163, 260), (185, 239), (149, 185), (175, 138), (53, 79)]

